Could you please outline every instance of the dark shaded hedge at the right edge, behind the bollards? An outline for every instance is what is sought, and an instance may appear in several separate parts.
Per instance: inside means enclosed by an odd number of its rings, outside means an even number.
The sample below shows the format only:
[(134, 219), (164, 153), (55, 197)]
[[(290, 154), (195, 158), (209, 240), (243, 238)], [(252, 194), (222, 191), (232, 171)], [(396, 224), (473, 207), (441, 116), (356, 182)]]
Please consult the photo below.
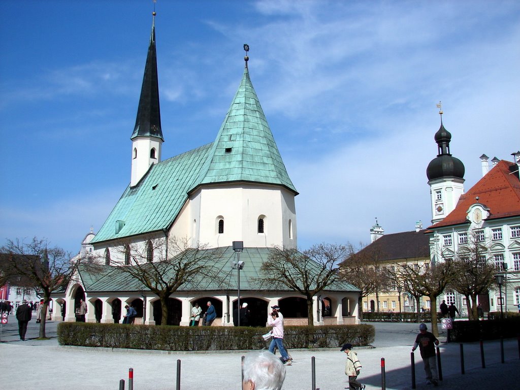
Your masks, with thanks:
[[(496, 316), (495, 316), (496, 318)], [(472, 342), (479, 340), (496, 340), (503, 337), (509, 339), (520, 334), (520, 316), (485, 320), (485, 321), (455, 321), (450, 330), (450, 341)]]

